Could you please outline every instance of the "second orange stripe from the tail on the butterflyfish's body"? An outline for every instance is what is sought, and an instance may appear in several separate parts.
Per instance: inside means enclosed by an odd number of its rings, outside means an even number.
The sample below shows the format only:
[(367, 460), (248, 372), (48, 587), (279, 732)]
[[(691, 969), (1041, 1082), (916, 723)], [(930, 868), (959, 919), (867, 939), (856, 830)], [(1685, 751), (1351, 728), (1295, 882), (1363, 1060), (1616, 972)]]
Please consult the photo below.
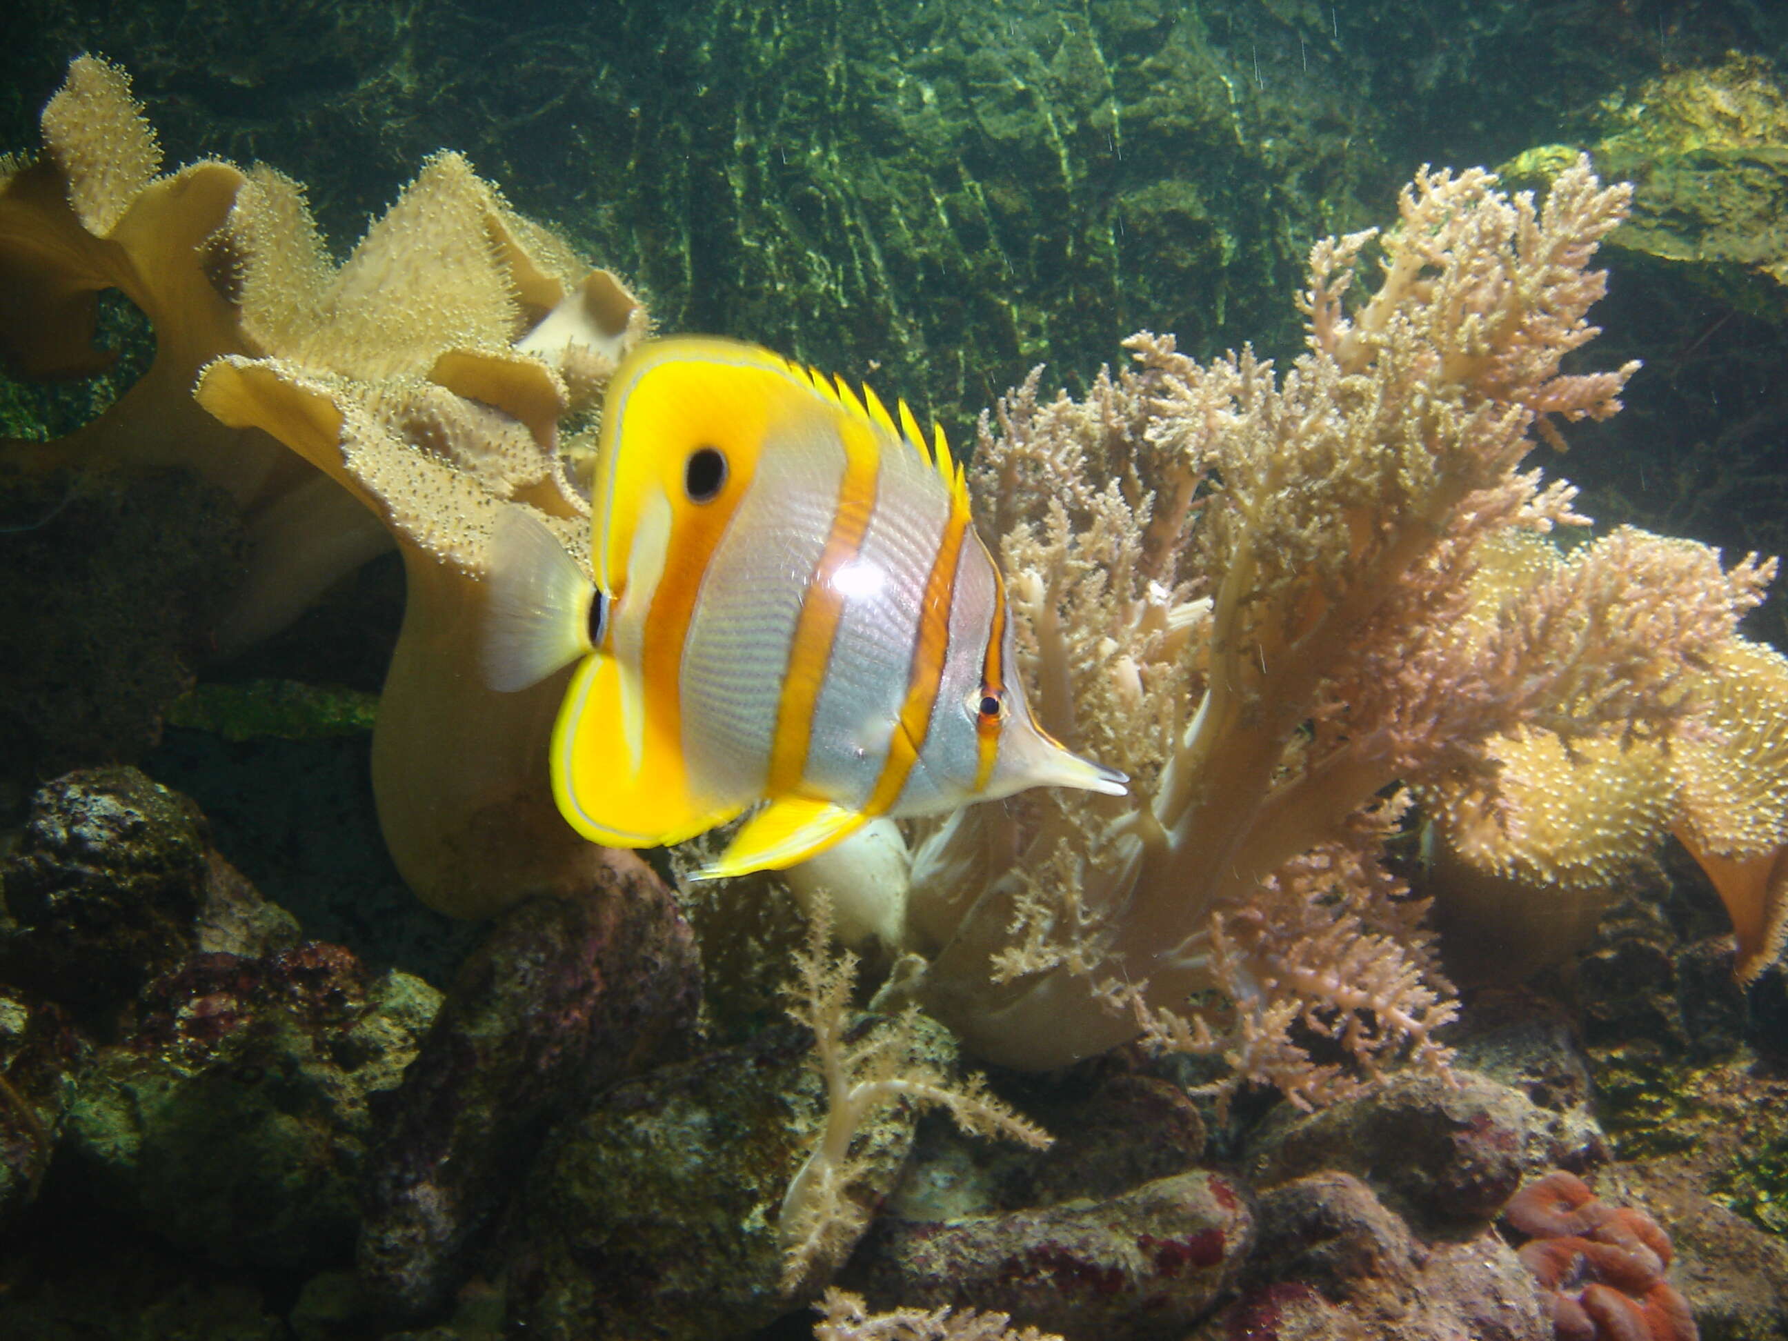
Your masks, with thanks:
[(806, 749), (814, 733), (819, 690), (826, 683), (831, 642), (844, 615), (844, 597), (833, 586), (833, 574), (856, 558), (876, 508), (876, 472), (881, 452), (874, 438), (855, 424), (839, 426), (844, 440), (844, 479), (831, 511), (831, 533), (819, 552), (814, 574), (801, 595), (801, 615), (789, 642), (789, 670), (783, 676), (781, 703), (776, 708), (776, 735), (771, 740), (767, 796), (785, 796), (801, 783)]

